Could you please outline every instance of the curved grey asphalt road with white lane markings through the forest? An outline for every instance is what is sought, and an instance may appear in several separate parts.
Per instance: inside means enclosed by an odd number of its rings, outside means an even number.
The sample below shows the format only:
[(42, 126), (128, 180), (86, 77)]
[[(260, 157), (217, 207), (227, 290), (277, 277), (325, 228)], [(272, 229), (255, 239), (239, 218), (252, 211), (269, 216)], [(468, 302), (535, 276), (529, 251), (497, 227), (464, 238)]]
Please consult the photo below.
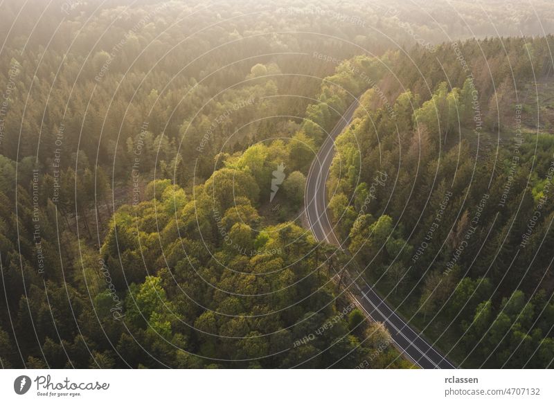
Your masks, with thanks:
[[(305, 212), (307, 222), (310, 224), (310, 229), (314, 233), (314, 237), (319, 242), (328, 242), (330, 244), (341, 247), (339, 240), (334, 235), (332, 225), (327, 215), (327, 192), (325, 190), (325, 182), (329, 176), (329, 170), (334, 155), (334, 139), (347, 127), (352, 121), (352, 115), (358, 105), (358, 102), (353, 102), (344, 112), (343, 116), (332, 129), (328, 138), (321, 145), (316, 158), (310, 166), (306, 179), (306, 187), (304, 193)], [(373, 291), (373, 288), (366, 283), (365, 287), (359, 287), (356, 283), (352, 283), (357, 287), (358, 292), (351, 294), (355, 298), (358, 305), (366, 312), (374, 321), (384, 323), (388, 331), (391, 333), (393, 343), (399, 348), (406, 357), (411, 359), (421, 368), (456, 368), (450, 361), (440, 354), (433, 346), (431, 346), (422, 334), (409, 327), (400, 316), (398, 316), (386, 302)]]

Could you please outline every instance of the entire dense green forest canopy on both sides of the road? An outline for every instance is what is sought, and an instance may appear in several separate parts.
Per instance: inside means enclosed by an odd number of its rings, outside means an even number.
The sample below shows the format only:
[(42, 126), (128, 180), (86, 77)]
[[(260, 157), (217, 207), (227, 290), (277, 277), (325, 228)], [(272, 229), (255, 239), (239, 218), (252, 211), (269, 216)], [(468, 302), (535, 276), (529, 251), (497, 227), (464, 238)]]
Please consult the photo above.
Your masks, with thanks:
[(552, 367), (554, 9), (427, 3), (3, 1), (1, 366)]

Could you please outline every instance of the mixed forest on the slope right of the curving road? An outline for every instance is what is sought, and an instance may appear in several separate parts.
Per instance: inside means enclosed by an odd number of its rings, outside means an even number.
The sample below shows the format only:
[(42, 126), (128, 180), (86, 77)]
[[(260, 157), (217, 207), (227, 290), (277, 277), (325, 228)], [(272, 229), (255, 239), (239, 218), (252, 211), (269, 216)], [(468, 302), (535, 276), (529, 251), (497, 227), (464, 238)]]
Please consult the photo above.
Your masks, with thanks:
[(470, 368), (553, 365), (553, 39), (414, 51), (409, 89), (382, 80), (337, 138), (330, 213), (361, 276)]

